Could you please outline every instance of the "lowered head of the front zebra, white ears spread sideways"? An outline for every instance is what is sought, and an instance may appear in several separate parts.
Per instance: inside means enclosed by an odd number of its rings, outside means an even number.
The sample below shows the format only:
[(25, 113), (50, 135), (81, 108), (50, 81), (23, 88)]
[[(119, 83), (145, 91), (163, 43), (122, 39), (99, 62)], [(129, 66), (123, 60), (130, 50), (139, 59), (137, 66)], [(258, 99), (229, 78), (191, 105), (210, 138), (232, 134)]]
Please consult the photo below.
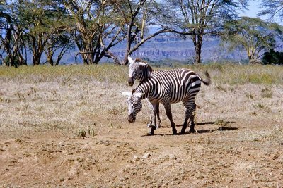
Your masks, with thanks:
[(128, 121), (133, 123), (136, 120), (137, 113), (141, 111), (141, 96), (142, 93), (122, 92), (123, 95), (128, 96), (127, 105), (129, 108)]

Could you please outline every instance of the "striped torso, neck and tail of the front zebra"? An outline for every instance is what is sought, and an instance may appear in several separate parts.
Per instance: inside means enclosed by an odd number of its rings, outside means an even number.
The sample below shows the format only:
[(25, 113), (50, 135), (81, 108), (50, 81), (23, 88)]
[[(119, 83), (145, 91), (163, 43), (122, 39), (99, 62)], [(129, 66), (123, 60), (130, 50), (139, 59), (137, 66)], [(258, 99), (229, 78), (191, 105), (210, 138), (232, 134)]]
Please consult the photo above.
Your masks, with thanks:
[(200, 90), (201, 82), (208, 85), (211, 80), (206, 73), (207, 79), (202, 79), (200, 75), (192, 70), (180, 68), (173, 70), (159, 70), (151, 77), (143, 80), (134, 92), (144, 93), (144, 98), (163, 101), (166, 97), (171, 103), (177, 103), (187, 99), (194, 98)]

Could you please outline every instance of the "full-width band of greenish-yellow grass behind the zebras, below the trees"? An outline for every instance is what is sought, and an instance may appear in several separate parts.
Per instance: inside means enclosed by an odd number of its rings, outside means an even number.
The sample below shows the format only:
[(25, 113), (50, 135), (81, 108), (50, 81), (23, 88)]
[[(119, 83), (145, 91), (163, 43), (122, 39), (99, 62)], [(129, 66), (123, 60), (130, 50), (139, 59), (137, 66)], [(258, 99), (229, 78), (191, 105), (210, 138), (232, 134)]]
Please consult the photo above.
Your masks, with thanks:
[[(168, 70), (170, 67), (155, 67), (155, 70)], [(283, 84), (283, 66), (251, 66), (236, 64), (210, 63), (206, 65), (180, 65), (176, 68), (189, 68), (204, 76), (207, 70), (212, 77), (212, 82), (218, 85), (238, 84)], [(8, 68), (0, 66), (1, 82), (5, 80), (31, 80), (42, 82), (63, 78), (71, 81), (76, 78), (83, 80), (98, 80), (107, 82), (127, 82), (128, 67), (124, 65), (98, 64), (98, 65), (62, 65), (50, 67), (48, 65), (21, 66), (20, 68)], [(16, 79), (16, 80), (15, 80)]]

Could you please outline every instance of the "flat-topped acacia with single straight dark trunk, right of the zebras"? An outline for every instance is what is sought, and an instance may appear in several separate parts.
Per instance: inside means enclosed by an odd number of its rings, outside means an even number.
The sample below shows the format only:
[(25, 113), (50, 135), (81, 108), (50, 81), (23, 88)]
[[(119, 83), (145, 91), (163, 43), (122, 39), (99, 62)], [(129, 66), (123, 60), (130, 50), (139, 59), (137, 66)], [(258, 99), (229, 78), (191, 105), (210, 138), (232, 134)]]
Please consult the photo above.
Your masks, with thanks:
[(226, 20), (237, 17), (236, 8), (246, 8), (247, 0), (166, 0), (163, 27), (180, 35), (190, 35), (195, 46), (195, 63), (201, 63), (204, 35), (221, 35)]

